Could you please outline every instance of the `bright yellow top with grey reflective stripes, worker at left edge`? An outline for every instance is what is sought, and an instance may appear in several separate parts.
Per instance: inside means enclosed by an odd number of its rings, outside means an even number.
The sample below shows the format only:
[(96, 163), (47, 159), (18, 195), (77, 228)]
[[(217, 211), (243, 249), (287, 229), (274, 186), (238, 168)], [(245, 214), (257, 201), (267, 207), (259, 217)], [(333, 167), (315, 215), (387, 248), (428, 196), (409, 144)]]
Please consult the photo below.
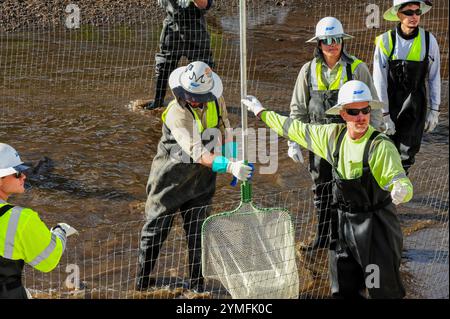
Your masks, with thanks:
[[(0, 202), (0, 208), (9, 205)], [(49, 272), (64, 251), (61, 239), (29, 208), (15, 206), (0, 217), (0, 256), (23, 260), (37, 270)]]

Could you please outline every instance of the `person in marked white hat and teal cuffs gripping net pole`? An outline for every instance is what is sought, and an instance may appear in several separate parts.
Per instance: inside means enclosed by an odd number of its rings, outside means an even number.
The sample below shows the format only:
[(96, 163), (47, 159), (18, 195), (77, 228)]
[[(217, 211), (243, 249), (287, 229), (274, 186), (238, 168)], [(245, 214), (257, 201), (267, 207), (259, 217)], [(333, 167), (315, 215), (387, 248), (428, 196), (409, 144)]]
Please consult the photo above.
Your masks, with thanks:
[(169, 86), (175, 100), (162, 114), (162, 137), (147, 182), (136, 289), (154, 285), (150, 274), (180, 210), (189, 249), (189, 288), (201, 291), (201, 225), (214, 196), (216, 175), (229, 173), (246, 181), (252, 168), (232, 160), (237, 149), (228, 141), (222, 81), (207, 64), (195, 61), (174, 70)]

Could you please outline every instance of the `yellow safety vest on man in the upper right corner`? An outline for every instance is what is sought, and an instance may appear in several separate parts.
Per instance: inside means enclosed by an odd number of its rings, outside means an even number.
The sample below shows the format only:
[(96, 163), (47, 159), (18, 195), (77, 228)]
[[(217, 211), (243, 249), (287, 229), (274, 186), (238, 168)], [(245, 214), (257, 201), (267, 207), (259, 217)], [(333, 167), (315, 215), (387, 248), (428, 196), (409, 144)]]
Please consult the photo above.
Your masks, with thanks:
[[(404, 58), (400, 59), (395, 55), (395, 48), (393, 47), (392, 36), (397, 36), (397, 32), (392, 34), (394, 31), (389, 30), (378, 36), (375, 40), (376, 45), (378, 45), (383, 51), (384, 55), (389, 57), (392, 54), (392, 60), (406, 60), (406, 61), (422, 61), (425, 57), (422, 57), (422, 48), (425, 48), (425, 30), (419, 28), (419, 34), (414, 38), (414, 41), (409, 49), (408, 53), (404, 54)], [(397, 43), (397, 41), (396, 41)], [(402, 54), (403, 55), (403, 54)]]

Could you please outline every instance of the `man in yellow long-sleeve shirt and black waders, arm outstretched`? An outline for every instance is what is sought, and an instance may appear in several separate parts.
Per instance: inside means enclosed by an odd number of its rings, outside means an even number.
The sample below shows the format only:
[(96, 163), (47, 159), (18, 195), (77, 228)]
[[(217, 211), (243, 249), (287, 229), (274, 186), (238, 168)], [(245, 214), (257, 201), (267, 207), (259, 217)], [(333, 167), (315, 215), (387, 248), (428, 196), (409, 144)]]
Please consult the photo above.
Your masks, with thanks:
[(279, 135), (326, 159), (333, 166), (329, 250), (331, 292), (336, 298), (403, 298), (400, 278), (403, 235), (395, 205), (407, 202), (413, 187), (392, 141), (370, 126), (372, 99), (367, 85), (345, 83), (338, 104), (327, 111), (346, 124), (304, 124), (265, 111), (255, 97), (242, 100)]

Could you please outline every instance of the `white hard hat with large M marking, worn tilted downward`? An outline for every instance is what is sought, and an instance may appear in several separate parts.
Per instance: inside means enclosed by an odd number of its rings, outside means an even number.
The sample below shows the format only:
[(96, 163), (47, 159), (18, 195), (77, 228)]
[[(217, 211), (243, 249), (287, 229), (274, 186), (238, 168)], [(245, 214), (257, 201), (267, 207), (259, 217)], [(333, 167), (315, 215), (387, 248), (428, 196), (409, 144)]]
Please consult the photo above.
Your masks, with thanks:
[(222, 96), (220, 77), (204, 62), (195, 61), (174, 70), (169, 86), (176, 96), (192, 102), (209, 102)]

